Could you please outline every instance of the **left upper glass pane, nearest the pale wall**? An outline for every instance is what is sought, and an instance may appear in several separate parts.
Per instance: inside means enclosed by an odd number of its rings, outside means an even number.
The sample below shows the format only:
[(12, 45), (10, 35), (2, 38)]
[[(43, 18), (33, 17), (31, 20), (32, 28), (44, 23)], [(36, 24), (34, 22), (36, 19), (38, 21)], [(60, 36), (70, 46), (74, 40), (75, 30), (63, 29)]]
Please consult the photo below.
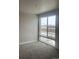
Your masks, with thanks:
[(47, 36), (47, 17), (42, 17), (40, 20), (40, 35)]

